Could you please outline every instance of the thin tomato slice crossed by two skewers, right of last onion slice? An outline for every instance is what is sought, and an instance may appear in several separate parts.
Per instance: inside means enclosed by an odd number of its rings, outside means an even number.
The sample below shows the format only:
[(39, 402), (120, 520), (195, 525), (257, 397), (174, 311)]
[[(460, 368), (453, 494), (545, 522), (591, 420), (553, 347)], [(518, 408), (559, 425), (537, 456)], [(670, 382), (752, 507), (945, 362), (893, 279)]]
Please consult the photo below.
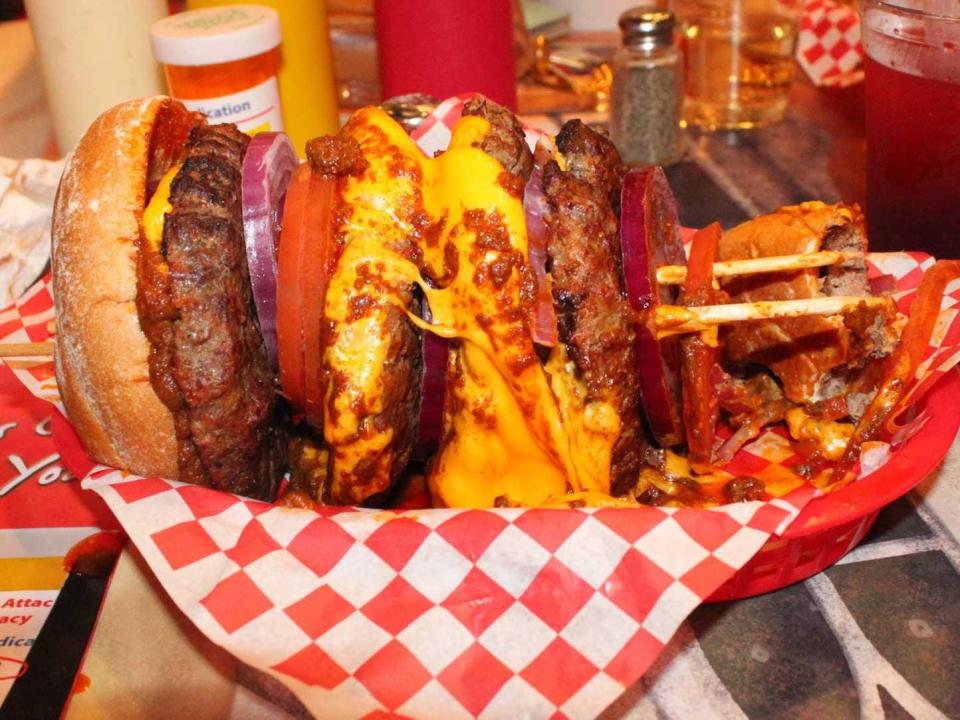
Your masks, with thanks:
[[(720, 226), (713, 223), (693, 236), (681, 295), (684, 305), (705, 305), (713, 301), (713, 263), (717, 259), (720, 234)], [(708, 343), (701, 333), (680, 341), (683, 422), (690, 463), (697, 470), (709, 466), (713, 456), (713, 439), (720, 413), (713, 377), (719, 356), (716, 343)]]

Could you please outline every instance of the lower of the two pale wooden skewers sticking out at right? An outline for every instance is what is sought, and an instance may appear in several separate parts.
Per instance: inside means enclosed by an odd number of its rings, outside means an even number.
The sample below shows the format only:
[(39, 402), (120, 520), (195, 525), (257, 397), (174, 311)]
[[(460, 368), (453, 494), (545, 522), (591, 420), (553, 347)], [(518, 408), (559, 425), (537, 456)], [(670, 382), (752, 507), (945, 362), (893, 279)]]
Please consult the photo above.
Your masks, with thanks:
[(701, 332), (723, 323), (804, 315), (838, 315), (856, 309), (861, 303), (867, 307), (877, 307), (889, 302), (891, 302), (890, 298), (887, 297), (839, 296), (695, 307), (658, 305), (654, 308), (652, 320), (657, 336), (664, 338), (668, 335)]

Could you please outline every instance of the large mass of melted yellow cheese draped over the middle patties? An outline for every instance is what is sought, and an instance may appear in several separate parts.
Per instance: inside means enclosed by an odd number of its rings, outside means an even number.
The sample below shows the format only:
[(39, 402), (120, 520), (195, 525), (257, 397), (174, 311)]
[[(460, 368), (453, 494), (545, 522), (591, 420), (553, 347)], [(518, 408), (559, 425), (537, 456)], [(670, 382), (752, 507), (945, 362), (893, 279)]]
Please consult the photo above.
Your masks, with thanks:
[[(459, 339), (450, 361), (459, 376), (448, 385), (444, 443), (429, 478), (434, 500), (534, 505), (568, 491), (609, 492), (619, 417), (608, 405), (582, 399), (561, 414), (558, 396), (570, 399), (583, 390), (559, 360), (549, 376), (537, 360), (516, 262), (527, 253), (523, 201), (501, 182), (503, 167), (473, 147), (487, 129), (481, 118), (462, 119), (437, 158), (425, 157), (376, 108), (354, 114), (344, 130), (369, 165), (341, 182), (351, 213), (338, 228), (343, 251), (325, 301), (335, 332), (324, 367), (330, 377), (349, 379), (327, 390), (327, 407), (335, 412), (326, 414), (324, 436), (334, 453), (335, 488), (389, 442), (388, 431), (364, 422), (378, 408), (389, 361), (391, 338), (377, 332), (378, 321), (391, 305), (403, 304), (402, 289), (415, 283), (430, 305), (428, 330)], [(424, 274), (442, 283), (420, 275), (411, 243)], [(448, 245), (455, 249), (455, 271), (445, 264)], [(365, 293), (364, 315), (354, 317), (350, 299)]]

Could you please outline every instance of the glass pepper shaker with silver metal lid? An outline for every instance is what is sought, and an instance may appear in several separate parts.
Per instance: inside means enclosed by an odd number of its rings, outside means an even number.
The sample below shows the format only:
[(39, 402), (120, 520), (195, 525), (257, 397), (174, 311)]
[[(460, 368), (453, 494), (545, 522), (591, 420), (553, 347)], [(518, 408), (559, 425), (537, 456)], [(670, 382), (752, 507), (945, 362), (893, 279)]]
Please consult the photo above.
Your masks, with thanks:
[(610, 138), (624, 162), (666, 165), (682, 152), (683, 61), (673, 14), (632, 8), (620, 16), (623, 45), (613, 59)]

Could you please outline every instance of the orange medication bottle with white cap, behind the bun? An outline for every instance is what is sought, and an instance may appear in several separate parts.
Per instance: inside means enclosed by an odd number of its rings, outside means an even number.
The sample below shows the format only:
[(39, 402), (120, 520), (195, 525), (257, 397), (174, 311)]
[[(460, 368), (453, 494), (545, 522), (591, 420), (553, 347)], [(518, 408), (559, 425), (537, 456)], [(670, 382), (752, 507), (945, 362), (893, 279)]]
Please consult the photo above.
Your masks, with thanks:
[(258, 5), (178, 13), (150, 30), (170, 96), (250, 135), (283, 130), (280, 39), (276, 11)]

